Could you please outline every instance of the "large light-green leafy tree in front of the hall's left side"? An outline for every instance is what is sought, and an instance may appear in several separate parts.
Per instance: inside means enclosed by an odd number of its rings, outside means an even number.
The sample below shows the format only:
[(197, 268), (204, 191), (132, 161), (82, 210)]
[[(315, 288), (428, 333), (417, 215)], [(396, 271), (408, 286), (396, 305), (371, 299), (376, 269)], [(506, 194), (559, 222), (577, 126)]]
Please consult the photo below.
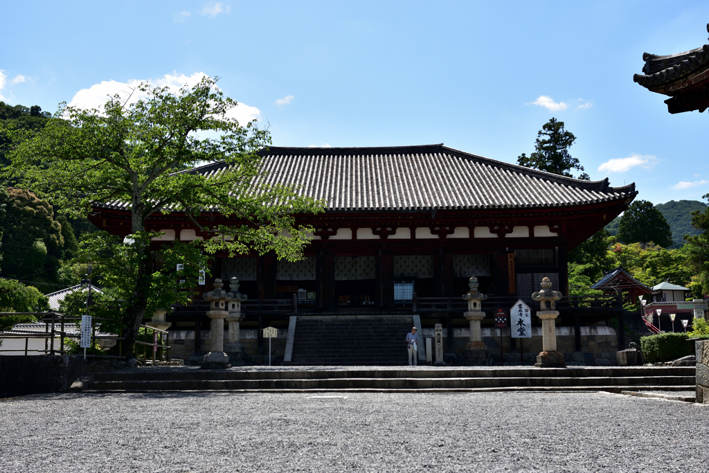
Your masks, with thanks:
[[(297, 260), (312, 228), (297, 226), (294, 214), (323, 208), (319, 201), (298, 196), (293, 187), (273, 187), (258, 179), (258, 151), (270, 144), (270, 135), (255, 122), (240, 126), (228, 116), (237, 103), (223, 96), (216, 79), (206, 77), (177, 93), (141, 84), (134, 93), (145, 99), (116, 95), (102, 111), (63, 106), (38, 133), (13, 131), (10, 152), (11, 175), (72, 216), (86, 216), (96, 202), (129, 204), (130, 240), (101, 237), (105, 254), (133, 252), (135, 269), (123, 277), (126, 283), (130, 279), (122, 302), (128, 350), (157, 299), (155, 278), (160, 276), (145, 231), (147, 218), (184, 213), (201, 230), (221, 237), (192, 244), (202, 244), (207, 252), (274, 251), (279, 258)], [(223, 162), (225, 167), (208, 177), (176, 172), (203, 162)], [(198, 219), (204, 209), (235, 224), (204, 227)], [(160, 304), (177, 297), (164, 292), (167, 299)]]

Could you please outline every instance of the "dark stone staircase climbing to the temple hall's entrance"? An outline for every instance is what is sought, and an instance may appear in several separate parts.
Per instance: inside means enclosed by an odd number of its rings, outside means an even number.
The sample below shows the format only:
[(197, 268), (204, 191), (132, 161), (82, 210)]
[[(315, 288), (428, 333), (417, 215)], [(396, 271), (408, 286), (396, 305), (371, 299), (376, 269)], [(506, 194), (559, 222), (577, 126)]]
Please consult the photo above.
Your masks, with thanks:
[(286, 365), (408, 365), (411, 316), (298, 316)]

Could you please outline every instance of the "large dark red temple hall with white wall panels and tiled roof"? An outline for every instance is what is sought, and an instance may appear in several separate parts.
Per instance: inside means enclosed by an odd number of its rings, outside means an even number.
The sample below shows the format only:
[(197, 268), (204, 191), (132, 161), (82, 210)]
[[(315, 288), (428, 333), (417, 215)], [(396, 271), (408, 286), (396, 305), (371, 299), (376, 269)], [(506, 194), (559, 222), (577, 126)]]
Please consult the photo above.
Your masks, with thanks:
[[(529, 297), (545, 276), (568, 294), (568, 250), (637, 194), (635, 184), (610, 187), (608, 179), (571, 179), (444, 145), (272, 147), (262, 157), (264, 181), (300, 185), (326, 201), (325, 213), (297, 216), (316, 228), (305, 260), (217, 254), (213, 277), (237, 276), (250, 299), (296, 294), (298, 306), (313, 311), (389, 311), (413, 292), (459, 296), (473, 275), (489, 295)], [(206, 226), (237, 223), (203, 218)], [(96, 205), (91, 221), (130, 233), (124, 204)], [(162, 230), (162, 241), (203, 238), (182, 213), (157, 213), (146, 228)]]

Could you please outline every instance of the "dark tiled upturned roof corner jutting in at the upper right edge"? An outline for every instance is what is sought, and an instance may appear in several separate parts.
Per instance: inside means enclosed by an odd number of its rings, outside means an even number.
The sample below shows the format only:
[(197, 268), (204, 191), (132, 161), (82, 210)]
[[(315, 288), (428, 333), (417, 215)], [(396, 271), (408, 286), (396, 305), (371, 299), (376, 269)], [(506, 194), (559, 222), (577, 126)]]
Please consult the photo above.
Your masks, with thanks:
[[(709, 24), (707, 25), (709, 31)], [(635, 74), (633, 81), (647, 87), (659, 87), (667, 82), (681, 79), (700, 69), (709, 66), (709, 45), (703, 45), (691, 51), (680, 52), (678, 54), (659, 56), (648, 54), (642, 55), (645, 65), (642, 68), (643, 74)]]

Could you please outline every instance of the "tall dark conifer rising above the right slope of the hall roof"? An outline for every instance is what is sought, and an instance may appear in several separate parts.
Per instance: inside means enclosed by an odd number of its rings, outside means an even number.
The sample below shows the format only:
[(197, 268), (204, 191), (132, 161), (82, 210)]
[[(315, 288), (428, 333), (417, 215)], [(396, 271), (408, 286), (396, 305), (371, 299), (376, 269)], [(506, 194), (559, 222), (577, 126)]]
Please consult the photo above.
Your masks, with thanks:
[[(575, 140), (576, 137), (573, 133), (564, 130), (563, 121), (552, 118), (537, 133), (535, 152), (529, 156), (522, 153), (517, 158), (517, 164), (566, 177), (574, 177), (571, 174), (571, 169), (584, 170), (579, 159), (569, 155), (569, 148)], [(588, 174), (582, 172), (576, 179), (588, 181), (589, 177)]]

